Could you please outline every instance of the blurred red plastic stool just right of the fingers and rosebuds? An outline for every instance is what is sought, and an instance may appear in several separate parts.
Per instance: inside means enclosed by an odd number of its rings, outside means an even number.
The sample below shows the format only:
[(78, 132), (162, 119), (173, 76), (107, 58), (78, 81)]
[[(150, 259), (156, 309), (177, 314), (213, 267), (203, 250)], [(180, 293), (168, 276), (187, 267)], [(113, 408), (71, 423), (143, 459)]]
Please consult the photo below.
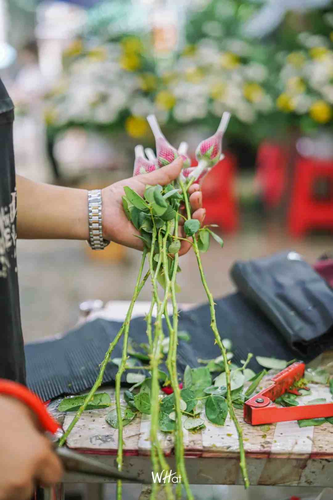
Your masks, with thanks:
[(234, 194), (236, 159), (231, 153), (206, 175), (203, 185), (204, 224), (218, 224), (226, 232), (239, 225), (238, 204)]

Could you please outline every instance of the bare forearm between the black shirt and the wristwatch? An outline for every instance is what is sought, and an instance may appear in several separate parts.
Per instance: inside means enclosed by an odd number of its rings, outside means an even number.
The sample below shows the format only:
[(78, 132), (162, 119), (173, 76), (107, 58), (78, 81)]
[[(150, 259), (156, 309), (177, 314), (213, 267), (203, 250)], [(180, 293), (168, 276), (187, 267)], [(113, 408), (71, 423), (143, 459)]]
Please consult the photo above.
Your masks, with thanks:
[(42, 184), (16, 175), (17, 237), (88, 239), (85, 189)]

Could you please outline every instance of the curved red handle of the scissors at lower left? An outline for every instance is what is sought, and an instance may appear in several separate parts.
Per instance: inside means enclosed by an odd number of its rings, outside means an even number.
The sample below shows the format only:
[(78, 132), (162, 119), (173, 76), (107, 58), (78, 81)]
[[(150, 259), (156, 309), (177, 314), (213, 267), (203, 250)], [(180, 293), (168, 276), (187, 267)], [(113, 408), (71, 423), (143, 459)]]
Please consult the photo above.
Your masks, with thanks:
[(43, 401), (24, 385), (0, 378), (0, 394), (6, 394), (19, 399), (29, 406), (37, 415), (38, 420), (45, 431), (55, 434), (60, 425), (48, 413)]

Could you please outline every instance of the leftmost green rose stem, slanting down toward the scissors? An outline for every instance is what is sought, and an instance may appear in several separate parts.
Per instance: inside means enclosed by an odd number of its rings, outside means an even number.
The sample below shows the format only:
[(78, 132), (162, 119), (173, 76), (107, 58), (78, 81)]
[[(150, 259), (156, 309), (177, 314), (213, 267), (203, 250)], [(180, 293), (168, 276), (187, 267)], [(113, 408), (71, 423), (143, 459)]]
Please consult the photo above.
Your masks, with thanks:
[[(148, 271), (147, 274), (144, 276), (143, 280), (141, 281), (140, 285), (136, 287), (135, 291), (134, 291), (134, 294), (133, 294), (133, 297), (132, 297), (132, 301), (131, 301), (131, 304), (134, 305), (136, 299), (138, 298), (138, 295), (141, 291), (141, 289), (143, 288), (145, 282), (147, 281), (148, 279), (148, 276), (149, 276), (150, 272)], [(140, 273), (139, 273), (139, 278), (138, 278), (138, 282), (140, 281), (141, 279), (141, 275), (142, 275), (142, 268), (140, 268)], [(126, 316), (127, 317), (127, 316)], [(86, 406), (88, 405), (88, 403), (91, 401), (91, 399), (93, 398), (96, 390), (98, 389), (98, 387), (100, 386), (100, 384), (102, 383), (103, 381), (103, 375), (104, 375), (104, 371), (105, 371), (105, 368), (106, 368), (106, 365), (107, 363), (109, 362), (109, 359), (110, 359), (110, 355), (115, 347), (115, 345), (117, 344), (119, 338), (121, 337), (123, 331), (124, 331), (124, 328), (125, 328), (125, 322), (126, 320), (124, 321), (124, 323), (122, 324), (120, 330), (118, 331), (117, 335), (114, 337), (114, 339), (112, 340), (112, 342), (110, 343), (109, 345), (109, 348), (108, 350), (106, 351), (106, 354), (104, 356), (104, 359), (101, 363), (101, 367), (100, 367), (100, 370), (99, 370), (99, 373), (98, 373), (98, 377), (96, 378), (96, 381), (95, 383), (93, 384), (93, 386), (91, 387), (90, 389), (90, 392), (87, 394), (82, 406), (79, 407), (79, 409), (77, 410), (77, 413), (76, 415), (74, 416), (73, 420), (70, 422), (66, 432), (64, 432), (63, 436), (61, 437), (61, 439), (59, 440), (59, 446), (62, 446), (67, 437), (69, 436), (72, 428), (74, 427), (74, 425), (76, 424), (76, 422), (79, 420), (82, 412), (85, 410)]]

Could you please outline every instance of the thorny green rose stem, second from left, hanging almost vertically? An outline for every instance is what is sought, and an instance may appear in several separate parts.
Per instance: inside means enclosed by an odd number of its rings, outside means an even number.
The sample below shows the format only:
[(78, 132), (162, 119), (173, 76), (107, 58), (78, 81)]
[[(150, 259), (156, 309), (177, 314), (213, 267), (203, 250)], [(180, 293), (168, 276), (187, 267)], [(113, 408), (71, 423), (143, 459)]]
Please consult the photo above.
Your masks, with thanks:
[[(135, 283), (135, 288), (134, 288), (134, 294), (133, 297), (138, 294), (138, 289), (140, 286), (140, 279), (143, 271), (143, 266), (146, 260), (146, 255), (147, 255), (147, 249), (145, 248), (142, 253), (142, 258), (141, 258), (141, 264), (140, 264), (140, 269), (139, 269), (139, 274)], [(122, 432), (123, 432), (123, 421), (121, 417), (121, 407), (120, 407), (120, 383), (121, 383), (121, 377), (122, 374), (125, 371), (125, 365), (126, 365), (126, 360), (127, 360), (127, 346), (128, 346), (128, 332), (129, 332), (129, 325), (130, 325), (130, 320), (132, 317), (132, 312), (133, 312), (133, 307), (134, 307), (134, 302), (135, 300), (132, 299), (130, 306), (128, 308), (125, 322), (124, 322), (124, 341), (123, 341), (123, 349), (122, 349), (122, 356), (121, 356), (121, 362), (119, 369), (116, 374), (116, 408), (117, 408), (117, 420), (118, 420), (118, 453), (117, 453), (117, 463), (118, 463), (118, 470), (122, 470), (122, 461), (123, 461), (123, 439), (122, 439)], [(118, 489), (121, 490), (121, 481), (119, 482)]]

